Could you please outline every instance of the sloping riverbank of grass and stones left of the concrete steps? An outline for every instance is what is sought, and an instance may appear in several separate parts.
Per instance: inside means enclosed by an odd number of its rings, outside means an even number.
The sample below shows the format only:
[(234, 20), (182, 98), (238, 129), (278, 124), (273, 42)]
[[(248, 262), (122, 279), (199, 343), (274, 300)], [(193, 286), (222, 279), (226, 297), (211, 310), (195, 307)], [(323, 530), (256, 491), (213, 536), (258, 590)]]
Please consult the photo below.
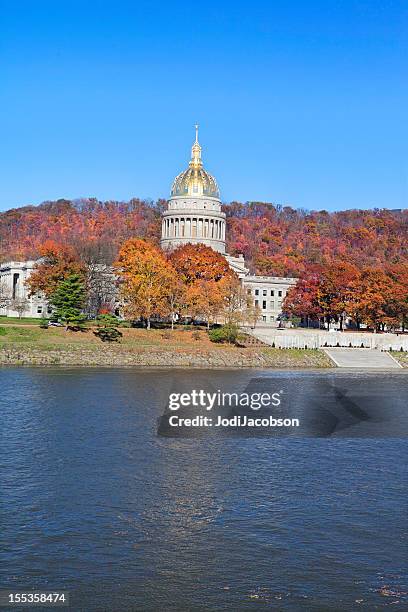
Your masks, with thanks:
[(92, 330), (4, 326), (0, 365), (142, 366), (175, 368), (330, 368), (319, 350), (217, 345), (205, 331), (122, 329), (120, 343), (102, 343)]

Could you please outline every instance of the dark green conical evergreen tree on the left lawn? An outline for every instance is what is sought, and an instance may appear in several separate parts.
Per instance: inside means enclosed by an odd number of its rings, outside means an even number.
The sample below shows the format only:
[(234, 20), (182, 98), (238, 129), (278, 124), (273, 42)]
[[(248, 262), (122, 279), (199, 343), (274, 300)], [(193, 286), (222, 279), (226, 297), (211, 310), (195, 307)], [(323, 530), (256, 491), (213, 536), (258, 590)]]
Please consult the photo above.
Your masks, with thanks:
[(66, 329), (78, 328), (85, 321), (82, 314), (85, 299), (86, 291), (81, 275), (71, 274), (59, 283), (51, 303), (55, 307), (55, 317), (65, 323)]

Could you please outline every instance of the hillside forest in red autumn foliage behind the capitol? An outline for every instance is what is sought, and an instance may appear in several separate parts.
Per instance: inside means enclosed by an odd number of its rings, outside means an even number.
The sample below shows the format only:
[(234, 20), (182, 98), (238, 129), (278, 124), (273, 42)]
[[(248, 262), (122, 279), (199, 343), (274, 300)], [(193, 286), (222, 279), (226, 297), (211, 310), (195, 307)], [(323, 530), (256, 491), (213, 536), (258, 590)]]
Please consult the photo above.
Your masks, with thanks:
[[(110, 263), (130, 237), (159, 241), (165, 200), (58, 200), (0, 213), (0, 261), (38, 256), (46, 240), (70, 244), (86, 259)], [(408, 262), (408, 210), (328, 213), (253, 202), (224, 205), (228, 252), (253, 272), (301, 275), (313, 264), (358, 267)]]

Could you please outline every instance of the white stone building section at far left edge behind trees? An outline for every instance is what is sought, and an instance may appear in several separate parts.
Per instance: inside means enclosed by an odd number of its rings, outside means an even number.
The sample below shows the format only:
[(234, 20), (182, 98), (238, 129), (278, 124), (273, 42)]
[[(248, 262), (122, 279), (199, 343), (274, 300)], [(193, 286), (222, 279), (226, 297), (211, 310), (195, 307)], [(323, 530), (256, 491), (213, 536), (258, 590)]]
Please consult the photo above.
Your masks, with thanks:
[(25, 284), (35, 261), (8, 261), (0, 264), (0, 315), (6, 317), (49, 317), (52, 309), (42, 294), (29, 296)]

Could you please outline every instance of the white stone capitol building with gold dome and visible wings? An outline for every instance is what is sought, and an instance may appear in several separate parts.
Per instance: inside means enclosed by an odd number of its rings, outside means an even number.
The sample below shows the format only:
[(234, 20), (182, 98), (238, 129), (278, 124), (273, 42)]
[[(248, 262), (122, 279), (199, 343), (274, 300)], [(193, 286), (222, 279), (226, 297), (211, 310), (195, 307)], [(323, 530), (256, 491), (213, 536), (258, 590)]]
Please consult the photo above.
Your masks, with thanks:
[[(277, 326), (282, 302), (296, 278), (256, 276), (250, 274), (244, 256), (226, 252), (226, 217), (222, 211), (220, 191), (215, 178), (204, 169), (196, 126), (188, 168), (173, 181), (167, 210), (163, 213), (160, 245), (164, 251), (183, 244), (205, 244), (218, 251), (241, 279), (261, 312), (260, 324)], [(47, 317), (52, 312), (41, 295), (30, 296), (25, 281), (35, 261), (9, 261), (0, 264), (0, 315), (17, 317), (18, 302), (25, 304), (23, 316)], [(4, 295), (6, 298), (4, 299)], [(1, 299), (3, 297), (3, 299)]]

